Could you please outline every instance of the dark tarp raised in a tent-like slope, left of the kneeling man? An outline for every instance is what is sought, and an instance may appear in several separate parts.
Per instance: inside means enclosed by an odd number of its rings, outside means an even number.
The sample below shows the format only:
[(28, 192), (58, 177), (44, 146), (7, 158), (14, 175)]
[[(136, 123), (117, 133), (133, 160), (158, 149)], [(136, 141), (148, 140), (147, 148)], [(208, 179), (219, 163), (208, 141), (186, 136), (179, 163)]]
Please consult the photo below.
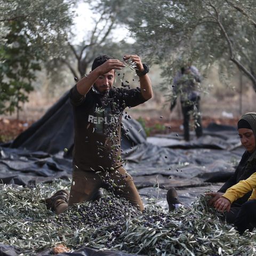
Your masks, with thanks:
[(67, 92), (42, 118), (22, 132), (11, 143), (10, 148), (44, 151), (49, 154), (69, 149), (74, 141), (73, 121), (73, 110)]

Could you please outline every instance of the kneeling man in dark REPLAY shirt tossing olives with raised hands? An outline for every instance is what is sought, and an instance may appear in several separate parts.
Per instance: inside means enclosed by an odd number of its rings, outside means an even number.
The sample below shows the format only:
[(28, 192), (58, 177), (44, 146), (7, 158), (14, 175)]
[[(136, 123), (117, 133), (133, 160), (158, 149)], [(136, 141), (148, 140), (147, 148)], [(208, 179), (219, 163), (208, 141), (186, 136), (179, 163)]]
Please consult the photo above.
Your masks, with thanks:
[(73, 180), (70, 196), (59, 190), (45, 200), (57, 214), (76, 203), (97, 199), (100, 188), (126, 198), (140, 211), (144, 209), (131, 175), (121, 159), (121, 121), (126, 107), (135, 107), (153, 96), (149, 68), (138, 55), (124, 55), (136, 66), (140, 88), (115, 88), (115, 69), (125, 67), (123, 61), (100, 55), (92, 64), (89, 75), (81, 78), (70, 90), (74, 109), (75, 142)]

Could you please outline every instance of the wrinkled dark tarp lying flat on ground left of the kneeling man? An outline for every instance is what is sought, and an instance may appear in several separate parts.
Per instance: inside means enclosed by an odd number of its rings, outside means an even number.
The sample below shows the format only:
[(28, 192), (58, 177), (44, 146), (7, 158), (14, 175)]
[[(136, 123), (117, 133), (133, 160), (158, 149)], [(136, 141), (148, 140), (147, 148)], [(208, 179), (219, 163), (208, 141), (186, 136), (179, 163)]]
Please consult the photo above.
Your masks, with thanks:
[(5, 184), (25, 186), (28, 182), (51, 182), (71, 175), (71, 159), (42, 151), (0, 147), (0, 180)]

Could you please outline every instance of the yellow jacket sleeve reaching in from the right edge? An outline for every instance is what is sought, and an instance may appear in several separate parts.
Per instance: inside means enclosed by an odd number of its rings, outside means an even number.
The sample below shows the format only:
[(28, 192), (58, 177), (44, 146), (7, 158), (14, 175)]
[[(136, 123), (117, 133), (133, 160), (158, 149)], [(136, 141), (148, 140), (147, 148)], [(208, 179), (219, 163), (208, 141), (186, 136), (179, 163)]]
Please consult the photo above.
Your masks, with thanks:
[(248, 179), (239, 181), (236, 185), (227, 189), (223, 197), (229, 199), (231, 203), (242, 197), (249, 191), (252, 191), (252, 195), (248, 200), (256, 199), (256, 173), (253, 173)]

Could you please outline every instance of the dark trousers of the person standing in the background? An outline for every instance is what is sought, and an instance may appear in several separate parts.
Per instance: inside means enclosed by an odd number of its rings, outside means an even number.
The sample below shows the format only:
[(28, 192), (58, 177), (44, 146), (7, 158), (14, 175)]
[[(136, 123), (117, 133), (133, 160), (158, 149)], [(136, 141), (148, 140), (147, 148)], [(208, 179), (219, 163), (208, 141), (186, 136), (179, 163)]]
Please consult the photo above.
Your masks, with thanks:
[(194, 111), (194, 121), (195, 121), (195, 132), (196, 137), (200, 137), (203, 134), (201, 115), (200, 112), (200, 97), (188, 101), (181, 101), (181, 108), (183, 114), (183, 127), (184, 127), (184, 139), (189, 141), (189, 119), (190, 112)]

